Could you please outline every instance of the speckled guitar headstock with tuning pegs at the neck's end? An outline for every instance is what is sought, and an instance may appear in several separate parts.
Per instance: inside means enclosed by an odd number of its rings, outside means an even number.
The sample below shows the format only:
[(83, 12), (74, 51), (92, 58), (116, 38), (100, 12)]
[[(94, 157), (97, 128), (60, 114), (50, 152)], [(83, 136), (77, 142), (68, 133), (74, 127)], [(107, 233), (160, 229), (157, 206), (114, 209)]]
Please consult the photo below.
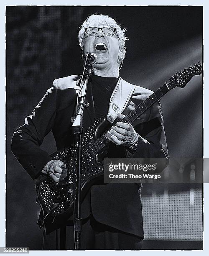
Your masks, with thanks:
[(189, 66), (189, 68), (184, 69), (183, 71), (176, 73), (173, 77), (169, 78), (169, 81), (166, 82), (166, 85), (169, 89), (176, 87), (184, 88), (184, 86), (191, 80), (195, 75), (202, 73), (202, 65), (200, 62)]

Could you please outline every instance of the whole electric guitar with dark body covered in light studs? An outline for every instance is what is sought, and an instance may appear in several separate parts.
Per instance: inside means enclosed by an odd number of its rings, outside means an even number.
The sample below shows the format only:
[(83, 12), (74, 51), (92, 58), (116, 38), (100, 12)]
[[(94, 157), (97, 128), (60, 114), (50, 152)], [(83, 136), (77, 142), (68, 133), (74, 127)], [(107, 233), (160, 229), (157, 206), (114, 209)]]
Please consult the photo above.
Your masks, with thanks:
[[(131, 124), (168, 91), (176, 87), (184, 88), (192, 77), (201, 74), (201, 72), (202, 65), (198, 62), (198, 64), (193, 64), (193, 66), (184, 69), (184, 71), (176, 73), (168, 82), (163, 84), (134, 110), (122, 118), (121, 122)], [(94, 124), (83, 135), (82, 196), (85, 195), (89, 187), (94, 183), (94, 179), (104, 174), (104, 165), (99, 161), (99, 156), (108, 148), (109, 143), (112, 143), (108, 139), (111, 126), (112, 124), (106, 118), (99, 118), (95, 120)], [(46, 214), (45, 219), (48, 215), (64, 218), (73, 212), (73, 190), (74, 180), (76, 179), (76, 174), (74, 177), (75, 150), (76, 146), (72, 146), (51, 154), (53, 159), (59, 159), (66, 164), (68, 173), (66, 185), (56, 185), (49, 177), (46, 177), (40, 183), (36, 183), (37, 198), (43, 212)]]

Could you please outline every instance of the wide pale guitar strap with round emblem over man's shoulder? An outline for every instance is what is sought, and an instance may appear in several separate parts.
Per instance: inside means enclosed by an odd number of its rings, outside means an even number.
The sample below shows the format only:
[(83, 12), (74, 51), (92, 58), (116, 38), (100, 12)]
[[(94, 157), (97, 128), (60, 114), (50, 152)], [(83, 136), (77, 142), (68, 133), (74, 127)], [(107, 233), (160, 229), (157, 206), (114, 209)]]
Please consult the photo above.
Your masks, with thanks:
[(134, 90), (135, 85), (130, 84), (119, 77), (110, 97), (110, 105), (107, 113), (107, 120), (110, 123), (115, 121), (117, 113), (122, 113), (122, 111), (125, 110)]

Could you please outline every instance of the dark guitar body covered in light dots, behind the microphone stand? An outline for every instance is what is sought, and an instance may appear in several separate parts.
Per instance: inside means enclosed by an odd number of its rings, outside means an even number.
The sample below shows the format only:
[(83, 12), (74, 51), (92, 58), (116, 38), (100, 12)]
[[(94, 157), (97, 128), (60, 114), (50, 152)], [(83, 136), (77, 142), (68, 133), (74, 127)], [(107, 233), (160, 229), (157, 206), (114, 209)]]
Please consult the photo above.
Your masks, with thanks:
[[(90, 146), (95, 139), (99, 138), (102, 133), (110, 128), (110, 123), (106, 118), (99, 118), (94, 121), (92, 127), (89, 127), (83, 135), (83, 148)], [(107, 139), (109, 142), (109, 140)], [(67, 169), (67, 184), (56, 185), (50, 177), (46, 177), (42, 182), (36, 184), (36, 191), (38, 194), (38, 200), (41, 203), (44, 212), (47, 214), (54, 203), (58, 202), (59, 206), (51, 212), (51, 216), (57, 217), (69, 217), (73, 213), (73, 187), (74, 187), (74, 151), (75, 147), (64, 148), (61, 151), (56, 151), (51, 154), (53, 159), (61, 160), (66, 164)], [(106, 155), (107, 148), (103, 148), (99, 154), (95, 156), (85, 155), (82, 156), (82, 198), (87, 193), (88, 189), (94, 183), (94, 181), (104, 173), (104, 165), (102, 160)], [(76, 164), (76, 156), (75, 156)], [(75, 175), (76, 178), (76, 175)], [(75, 188), (76, 189), (76, 188)], [(75, 195), (76, 196), (76, 195)]]

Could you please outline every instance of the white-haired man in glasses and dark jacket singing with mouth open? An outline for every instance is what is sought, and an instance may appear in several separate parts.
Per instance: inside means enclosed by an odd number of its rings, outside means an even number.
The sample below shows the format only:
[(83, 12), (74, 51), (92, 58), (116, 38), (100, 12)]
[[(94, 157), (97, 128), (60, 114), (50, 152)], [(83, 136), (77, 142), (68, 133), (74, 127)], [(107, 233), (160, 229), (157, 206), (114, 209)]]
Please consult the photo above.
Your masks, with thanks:
[[(89, 108), (84, 109), (84, 131), (97, 118), (107, 117), (111, 122), (110, 101), (116, 87), (121, 94), (126, 86), (132, 88), (122, 111), (125, 115), (152, 93), (119, 77), (126, 39), (125, 30), (107, 15), (91, 15), (80, 27), (79, 43), (83, 58), (88, 51), (97, 55), (97, 61), (92, 66), (94, 74), (90, 76), (87, 87)], [(33, 115), (26, 117), (25, 124), (14, 133), (13, 154), (36, 182), (44, 175), (49, 175), (60, 184), (66, 178), (66, 171), (61, 168), (64, 163), (52, 159), (39, 146), (49, 131), (54, 134), (57, 149), (72, 145), (70, 117), (76, 111), (76, 88), (80, 78), (79, 75), (71, 75), (55, 79), (53, 87), (46, 92)], [(121, 119), (123, 114), (118, 113), (118, 117)], [(112, 126), (109, 138), (112, 143), (108, 155), (112, 158), (168, 156), (159, 102), (135, 120), (133, 126), (117, 122)], [(102, 181), (93, 184), (82, 202), (82, 219), (82, 249), (140, 249), (143, 240), (140, 186), (104, 184)], [(65, 229), (66, 236), (64, 234), (60, 238), (61, 248), (73, 249), (72, 219), (66, 221)], [(46, 236), (45, 248), (55, 248), (53, 238), (54, 232)]]

